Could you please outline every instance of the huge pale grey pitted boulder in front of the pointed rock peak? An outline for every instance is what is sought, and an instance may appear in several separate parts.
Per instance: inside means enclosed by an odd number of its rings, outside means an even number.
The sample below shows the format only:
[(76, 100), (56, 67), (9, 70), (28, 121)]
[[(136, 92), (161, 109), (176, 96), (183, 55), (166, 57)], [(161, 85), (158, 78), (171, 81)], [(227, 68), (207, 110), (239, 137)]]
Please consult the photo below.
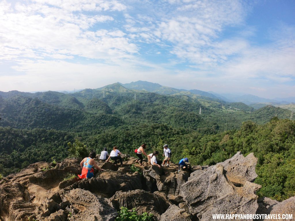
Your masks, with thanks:
[(255, 214), (258, 204), (255, 191), (260, 185), (245, 181), (235, 187), (226, 177), (221, 164), (209, 167), (199, 177), (191, 179), (181, 187), (181, 195), (192, 215), (212, 220), (212, 214)]

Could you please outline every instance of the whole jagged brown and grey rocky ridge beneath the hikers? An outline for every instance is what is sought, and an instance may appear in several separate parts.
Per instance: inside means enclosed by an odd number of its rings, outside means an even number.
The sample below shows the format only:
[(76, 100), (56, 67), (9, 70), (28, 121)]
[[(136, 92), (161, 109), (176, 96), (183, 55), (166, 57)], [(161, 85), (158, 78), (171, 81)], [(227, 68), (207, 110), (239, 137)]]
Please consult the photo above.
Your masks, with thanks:
[[(212, 214), (295, 216), (295, 197), (277, 202), (255, 194), (260, 185), (253, 183), (253, 154), (237, 152), (214, 166), (194, 166), (192, 173), (178, 173), (174, 164), (139, 166), (126, 156), (124, 167), (99, 161), (105, 171), (95, 177), (64, 180), (69, 173), (81, 173), (80, 161), (38, 162), (2, 179), (0, 220), (115, 220), (122, 206), (152, 213), (160, 221), (213, 220)], [(142, 172), (132, 171), (132, 164)]]

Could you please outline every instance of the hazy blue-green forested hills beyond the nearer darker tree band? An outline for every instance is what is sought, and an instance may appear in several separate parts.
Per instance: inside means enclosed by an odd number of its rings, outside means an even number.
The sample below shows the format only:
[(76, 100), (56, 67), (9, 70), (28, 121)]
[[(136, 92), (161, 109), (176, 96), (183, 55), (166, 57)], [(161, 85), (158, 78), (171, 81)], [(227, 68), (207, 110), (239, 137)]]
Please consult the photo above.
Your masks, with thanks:
[(1, 125), (20, 129), (91, 131), (109, 126), (165, 123), (176, 128), (216, 133), (239, 128), (247, 120), (266, 123), (273, 116), (289, 118), (291, 115), (289, 110), (272, 106), (253, 112), (253, 108), (243, 103), (218, 103), (212, 98), (199, 102), (183, 95), (146, 92), (137, 92), (135, 98), (134, 92), (125, 90), (120, 84), (101, 90), (85, 89), (74, 94), (48, 91), (34, 96), (8, 92), (4, 94), (6, 99), (0, 99)]

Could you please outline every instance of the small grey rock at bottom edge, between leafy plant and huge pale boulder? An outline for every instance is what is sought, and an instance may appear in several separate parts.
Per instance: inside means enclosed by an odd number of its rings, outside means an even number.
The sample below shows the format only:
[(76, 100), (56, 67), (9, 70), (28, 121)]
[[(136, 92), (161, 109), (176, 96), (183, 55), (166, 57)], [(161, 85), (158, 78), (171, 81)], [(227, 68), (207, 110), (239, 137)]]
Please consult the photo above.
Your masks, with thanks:
[(178, 206), (171, 205), (165, 213), (160, 217), (160, 221), (191, 221), (191, 215), (189, 215), (184, 209), (180, 209)]

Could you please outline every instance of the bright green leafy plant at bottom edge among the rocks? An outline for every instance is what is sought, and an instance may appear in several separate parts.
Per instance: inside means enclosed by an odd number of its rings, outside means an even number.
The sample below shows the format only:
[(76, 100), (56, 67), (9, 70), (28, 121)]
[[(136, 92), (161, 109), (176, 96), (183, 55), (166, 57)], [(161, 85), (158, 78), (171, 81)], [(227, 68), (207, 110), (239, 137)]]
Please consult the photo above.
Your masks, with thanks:
[(137, 215), (136, 209), (128, 210), (126, 207), (120, 207), (120, 213), (116, 218), (116, 221), (153, 221), (153, 214), (147, 212), (142, 215)]

